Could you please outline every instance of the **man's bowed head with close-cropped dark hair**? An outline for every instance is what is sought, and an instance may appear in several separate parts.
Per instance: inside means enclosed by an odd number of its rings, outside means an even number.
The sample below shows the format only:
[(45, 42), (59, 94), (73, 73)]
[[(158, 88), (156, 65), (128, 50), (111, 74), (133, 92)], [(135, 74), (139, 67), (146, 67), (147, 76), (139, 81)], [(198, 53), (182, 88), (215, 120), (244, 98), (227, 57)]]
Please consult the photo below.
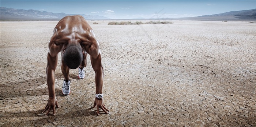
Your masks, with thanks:
[(78, 68), (83, 61), (83, 51), (81, 45), (68, 45), (64, 51), (63, 59), (68, 68)]

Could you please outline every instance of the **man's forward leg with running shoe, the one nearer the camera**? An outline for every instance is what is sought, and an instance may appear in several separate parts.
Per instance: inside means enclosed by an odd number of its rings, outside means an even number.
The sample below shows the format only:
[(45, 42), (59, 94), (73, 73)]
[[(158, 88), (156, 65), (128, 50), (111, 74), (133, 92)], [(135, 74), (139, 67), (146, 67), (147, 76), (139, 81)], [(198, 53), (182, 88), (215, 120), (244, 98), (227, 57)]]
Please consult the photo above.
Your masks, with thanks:
[(69, 95), (70, 94), (70, 78), (69, 78), (69, 68), (65, 64), (64, 59), (63, 59), (63, 51), (61, 51), (61, 72), (63, 74), (64, 80), (63, 80), (63, 86), (62, 86), (62, 93), (64, 95)]

